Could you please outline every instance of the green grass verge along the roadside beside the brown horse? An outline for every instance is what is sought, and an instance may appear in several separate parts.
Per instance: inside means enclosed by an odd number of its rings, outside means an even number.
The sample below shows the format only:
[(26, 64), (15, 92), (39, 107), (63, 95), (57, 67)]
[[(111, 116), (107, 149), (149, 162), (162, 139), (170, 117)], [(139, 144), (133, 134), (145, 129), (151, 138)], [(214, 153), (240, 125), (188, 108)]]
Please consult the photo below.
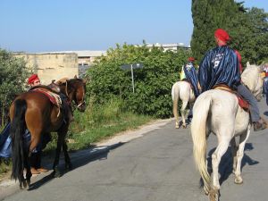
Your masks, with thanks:
[[(67, 139), (69, 151), (76, 151), (91, 147), (105, 138), (124, 131), (137, 129), (138, 126), (154, 120), (154, 117), (130, 113), (123, 110), (123, 103), (118, 99), (111, 99), (105, 105), (88, 105), (85, 113), (75, 112), (74, 122), (71, 122)], [(56, 134), (52, 135), (52, 142), (48, 143), (44, 155), (54, 157), (56, 147)], [(1, 178), (10, 172), (11, 160), (0, 160), (0, 181)]]

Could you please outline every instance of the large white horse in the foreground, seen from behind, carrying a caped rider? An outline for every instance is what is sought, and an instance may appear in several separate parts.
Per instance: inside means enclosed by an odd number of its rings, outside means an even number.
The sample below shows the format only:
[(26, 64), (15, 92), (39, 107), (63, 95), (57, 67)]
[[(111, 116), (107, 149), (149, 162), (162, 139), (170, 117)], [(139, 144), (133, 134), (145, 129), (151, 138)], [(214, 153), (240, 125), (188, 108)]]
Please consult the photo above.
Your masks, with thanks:
[[(243, 83), (255, 93), (255, 96), (261, 94), (259, 88), (262, 88), (259, 71), (258, 66), (247, 64), (247, 69), (241, 76)], [(243, 182), (240, 169), (244, 147), (251, 128), (249, 113), (239, 106), (237, 96), (222, 89), (208, 90), (198, 96), (193, 113), (191, 135), (197, 170), (204, 181), (205, 193), (209, 195), (211, 201), (218, 200), (219, 163), (229, 144), (233, 155), (234, 181), (237, 184)], [(212, 179), (206, 167), (206, 139), (211, 132), (218, 139), (218, 146), (212, 155)], [(239, 137), (239, 145), (236, 144), (235, 137)]]

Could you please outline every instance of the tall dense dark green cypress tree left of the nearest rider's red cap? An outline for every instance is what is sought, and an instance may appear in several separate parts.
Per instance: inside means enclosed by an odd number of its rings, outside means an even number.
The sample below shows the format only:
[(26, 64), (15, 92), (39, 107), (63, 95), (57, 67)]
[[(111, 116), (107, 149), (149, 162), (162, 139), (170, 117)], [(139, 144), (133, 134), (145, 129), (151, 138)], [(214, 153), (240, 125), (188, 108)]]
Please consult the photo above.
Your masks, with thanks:
[(229, 30), (239, 5), (233, 0), (192, 0), (194, 31), (191, 38), (193, 55), (200, 61), (205, 52), (215, 46), (214, 30)]

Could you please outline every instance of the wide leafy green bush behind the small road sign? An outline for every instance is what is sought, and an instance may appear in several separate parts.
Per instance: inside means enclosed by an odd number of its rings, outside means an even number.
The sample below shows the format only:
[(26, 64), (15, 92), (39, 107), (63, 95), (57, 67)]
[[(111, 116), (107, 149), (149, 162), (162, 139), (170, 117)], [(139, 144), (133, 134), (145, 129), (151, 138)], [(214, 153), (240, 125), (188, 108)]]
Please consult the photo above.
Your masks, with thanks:
[[(174, 53), (163, 52), (163, 48), (155, 46), (149, 49), (145, 45), (117, 45), (89, 69), (88, 96), (94, 104), (103, 104), (113, 96), (120, 97), (127, 111), (170, 117), (172, 84), (178, 81), (180, 68), (190, 54), (185, 49)], [(144, 66), (134, 69), (134, 93), (130, 71), (121, 70), (121, 65), (130, 63), (143, 63)]]

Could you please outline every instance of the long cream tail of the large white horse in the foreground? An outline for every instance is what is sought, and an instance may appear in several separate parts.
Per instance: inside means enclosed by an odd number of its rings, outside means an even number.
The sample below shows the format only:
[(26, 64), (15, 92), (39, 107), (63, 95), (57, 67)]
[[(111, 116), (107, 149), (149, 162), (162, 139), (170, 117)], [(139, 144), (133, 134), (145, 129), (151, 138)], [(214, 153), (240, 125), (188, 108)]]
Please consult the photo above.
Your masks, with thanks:
[[(203, 94), (205, 95), (205, 94)], [(210, 176), (206, 168), (206, 121), (212, 103), (211, 96), (198, 96), (194, 105), (194, 116), (191, 123), (193, 153), (197, 169), (204, 181), (205, 192), (209, 192)]]

